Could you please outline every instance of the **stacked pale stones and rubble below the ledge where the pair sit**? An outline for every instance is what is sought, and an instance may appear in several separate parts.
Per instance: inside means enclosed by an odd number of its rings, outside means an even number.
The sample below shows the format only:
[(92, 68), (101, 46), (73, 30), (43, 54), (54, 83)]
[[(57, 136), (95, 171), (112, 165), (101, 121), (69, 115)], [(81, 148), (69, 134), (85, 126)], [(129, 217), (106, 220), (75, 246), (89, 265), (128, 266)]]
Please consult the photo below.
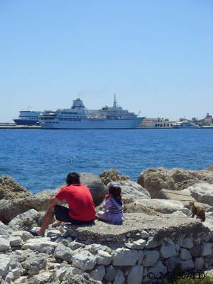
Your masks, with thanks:
[[(155, 239), (138, 231), (126, 234), (122, 243), (95, 244), (59, 229), (33, 237), (27, 231), (11, 231), (0, 224), (1, 283), (154, 283), (166, 273), (213, 268), (213, 239), (209, 233), (174, 234)], [(105, 240), (107, 241), (107, 240)], [(106, 245), (107, 244), (107, 245)], [(85, 274), (86, 273), (86, 274)]]

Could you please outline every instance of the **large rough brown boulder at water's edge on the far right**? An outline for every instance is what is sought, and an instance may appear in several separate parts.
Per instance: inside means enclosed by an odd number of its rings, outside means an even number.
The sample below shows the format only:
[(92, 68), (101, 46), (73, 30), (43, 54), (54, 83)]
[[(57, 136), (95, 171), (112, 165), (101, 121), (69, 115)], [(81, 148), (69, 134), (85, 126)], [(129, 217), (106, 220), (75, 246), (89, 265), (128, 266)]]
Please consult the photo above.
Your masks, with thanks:
[(213, 184), (213, 172), (210, 170), (182, 170), (173, 168), (150, 168), (141, 173), (138, 184), (150, 192), (152, 198), (158, 198), (158, 192), (166, 190), (183, 190), (199, 182)]

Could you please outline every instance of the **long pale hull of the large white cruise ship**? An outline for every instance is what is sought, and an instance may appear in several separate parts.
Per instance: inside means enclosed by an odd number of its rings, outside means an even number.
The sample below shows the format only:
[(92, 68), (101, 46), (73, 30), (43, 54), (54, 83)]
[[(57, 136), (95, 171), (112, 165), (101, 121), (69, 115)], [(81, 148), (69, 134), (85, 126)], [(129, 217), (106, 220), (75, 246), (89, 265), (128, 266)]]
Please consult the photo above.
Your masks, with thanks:
[(136, 119), (79, 119), (40, 121), (42, 129), (136, 129), (145, 117)]

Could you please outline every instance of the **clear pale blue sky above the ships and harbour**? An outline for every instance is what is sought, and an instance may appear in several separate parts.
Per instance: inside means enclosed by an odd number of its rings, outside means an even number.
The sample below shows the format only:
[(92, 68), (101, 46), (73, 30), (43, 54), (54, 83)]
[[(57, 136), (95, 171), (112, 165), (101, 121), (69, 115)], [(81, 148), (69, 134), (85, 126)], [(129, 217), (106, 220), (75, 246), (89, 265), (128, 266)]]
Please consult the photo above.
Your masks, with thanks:
[(0, 122), (114, 93), (147, 117), (213, 115), (213, 1), (0, 0)]

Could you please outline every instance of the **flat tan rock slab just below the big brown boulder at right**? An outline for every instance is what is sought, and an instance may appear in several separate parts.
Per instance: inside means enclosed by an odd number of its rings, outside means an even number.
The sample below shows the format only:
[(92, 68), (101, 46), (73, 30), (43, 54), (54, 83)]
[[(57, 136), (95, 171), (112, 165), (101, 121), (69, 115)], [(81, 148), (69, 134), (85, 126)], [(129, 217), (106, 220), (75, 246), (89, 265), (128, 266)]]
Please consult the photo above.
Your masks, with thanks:
[(178, 200), (178, 201), (188, 201), (195, 202), (189, 192), (185, 190), (160, 190), (158, 192), (158, 198), (163, 200)]

